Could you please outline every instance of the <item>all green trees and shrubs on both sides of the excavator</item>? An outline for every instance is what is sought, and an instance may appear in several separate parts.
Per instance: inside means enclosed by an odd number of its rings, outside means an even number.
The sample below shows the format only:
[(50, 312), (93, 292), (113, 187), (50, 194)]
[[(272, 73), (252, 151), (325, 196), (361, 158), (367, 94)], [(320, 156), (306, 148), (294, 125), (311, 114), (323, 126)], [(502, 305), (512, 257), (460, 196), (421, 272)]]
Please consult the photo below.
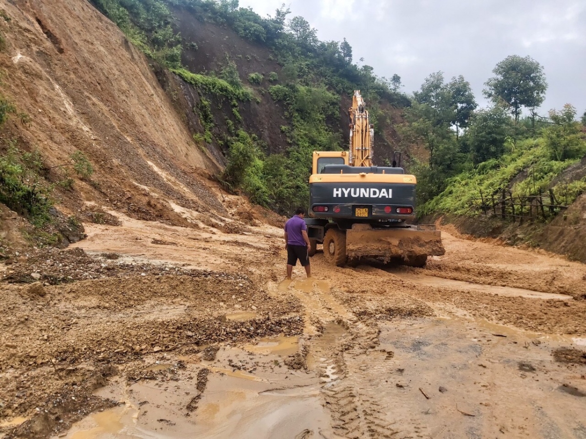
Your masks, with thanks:
[[(200, 101), (194, 111), (204, 132), (193, 138), (200, 147), (204, 141), (227, 146), (227, 167), (220, 181), (282, 213), (308, 201), (312, 151), (345, 148), (338, 128), (340, 95), (350, 96), (353, 90), (360, 90), (368, 102), (379, 135), (381, 124), (390, 119), (381, 109), (381, 103), (387, 102), (404, 109), (404, 124), (397, 126), (403, 144), (417, 144), (427, 151), (424, 157), (407, 160), (408, 169), (418, 178), (420, 214), (475, 215), (472, 198), (481, 190), (490, 195), (506, 188), (529, 195), (553, 188), (571, 200), (584, 188), (583, 181), (556, 183), (556, 177), (584, 155), (584, 135), (571, 106), (550, 112), (548, 118), (537, 117), (547, 83), (543, 67), (530, 57), (513, 55), (498, 63), (484, 91), (492, 106), (477, 110), (464, 77), (445, 81), (441, 72), (431, 74), (413, 97), (407, 97), (400, 92), (400, 76), (377, 77), (362, 59), (353, 61), (346, 39), (320, 41), (308, 21), (289, 18), (285, 6), (262, 18), (240, 8), (237, 0), (90, 1), (147, 56), (197, 88)], [(282, 67), (278, 74), (273, 71), (265, 77), (271, 83), (272, 100), (286, 109), (288, 121), (281, 126), (287, 139), (283, 153), (268, 155), (267, 145), (243, 130), (242, 104), (260, 99), (244, 87), (228, 54), (218, 71), (196, 73), (181, 65), (182, 39), (173, 28), (170, 9), (175, 6), (270, 50), (268, 59)], [(196, 42), (184, 44), (186, 49), (199, 49)], [(236, 56), (240, 62), (246, 62), (245, 58), (252, 60), (250, 55)], [(263, 79), (261, 73), (247, 75), (250, 84), (261, 84)], [(219, 124), (212, 109), (222, 109), (226, 101), (231, 114), (222, 115), (227, 127), (222, 135), (213, 129)], [(529, 111), (530, 117), (523, 117), (523, 111)]]

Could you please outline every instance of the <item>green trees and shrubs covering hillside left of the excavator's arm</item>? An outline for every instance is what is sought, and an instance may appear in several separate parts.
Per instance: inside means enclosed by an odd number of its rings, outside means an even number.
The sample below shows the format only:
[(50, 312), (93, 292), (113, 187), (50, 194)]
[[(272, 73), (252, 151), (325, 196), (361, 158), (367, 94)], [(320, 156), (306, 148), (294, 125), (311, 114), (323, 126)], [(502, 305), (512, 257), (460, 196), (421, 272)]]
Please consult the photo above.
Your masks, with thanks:
[[(339, 132), (340, 95), (351, 96), (354, 90), (361, 90), (377, 132), (379, 120), (387, 118), (379, 107), (381, 100), (397, 107), (410, 105), (406, 95), (398, 92), (400, 77), (394, 75), (387, 80), (377, 77), (372, 67), (359, 66), (345, 39), (319, 40), (307, 20), (289, 18), (284, 6), (273, 16), (262, 18), (249, 8), (240, 8), (237, 0), (90, 1), (142, 52), (202, 91), (202, 102), (206, 102), (203, 94), (230, 100), (236, 118), (229, 124), (229, 135), (216, 139), (227, 146), (227, 166), (218, 178), (229, 188), (244, 190), (255, 203), (279, 212), (308, 203), (312, 151), (346, 148)], [(245, 84), (229, 57), (219, 71), (189, 71), (181, 63), (181, 54), (199, 47), (176, 31), (173, 8), (187, 9), (202, 22), (230, 26), (244, 39), (270, 50), (271, 59), (282, 69), (279, 74), (270, 73), (271, 84), (262, 92), (268, 92), (287, 109), (289, 124), (281, 127), (288, 142), (284, 153), (268, 155), (266, 145), (240, 124), (239, 102), (255, 98), (251, 87), (258, 90), (261, 74), (250, 74)], [(196, 111), (205, 132), (196, 134), (195, 141), (210, 143), (216, 121), (206, 108)]]

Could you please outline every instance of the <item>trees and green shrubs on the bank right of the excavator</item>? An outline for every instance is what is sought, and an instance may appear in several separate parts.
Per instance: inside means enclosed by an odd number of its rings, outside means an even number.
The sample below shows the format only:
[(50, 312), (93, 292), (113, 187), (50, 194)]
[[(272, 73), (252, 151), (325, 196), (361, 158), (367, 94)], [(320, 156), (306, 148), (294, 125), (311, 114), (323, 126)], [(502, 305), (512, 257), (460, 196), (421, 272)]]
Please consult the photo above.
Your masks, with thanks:
[(586, 113), (578, 121), (566, 104), (548, 117), (537, 114), (547, 82), (530, 57), (509, 56), (493, 73), (483, 90), (492, 102), (488, 108), (477, 109), (462, 76), (446, 83), (434, 73), (414, 92), (400, 132), (403, 142), (423, 145), (428, 153), (410, 169), (418, 177), (419, 215), (476, 215), (481, 193), (531, 197), (552, 189), (571, 203), (586, 189), (584, 179), (557, 178), (586, 154)]

